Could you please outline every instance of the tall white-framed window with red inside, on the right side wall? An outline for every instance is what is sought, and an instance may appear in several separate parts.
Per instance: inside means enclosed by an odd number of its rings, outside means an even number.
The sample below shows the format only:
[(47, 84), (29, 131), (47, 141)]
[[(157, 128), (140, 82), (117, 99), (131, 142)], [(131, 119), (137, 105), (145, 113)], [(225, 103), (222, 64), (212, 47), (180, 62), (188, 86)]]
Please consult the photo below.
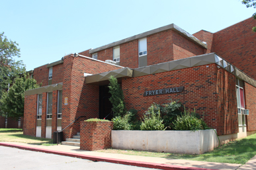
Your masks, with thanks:
[(237, 99), (237, 113), (238, 113), (238, 125), (246, 125), (245, 122), (245, 98), (243, 93), (243, 81), (236, 79), (236, 99)]

